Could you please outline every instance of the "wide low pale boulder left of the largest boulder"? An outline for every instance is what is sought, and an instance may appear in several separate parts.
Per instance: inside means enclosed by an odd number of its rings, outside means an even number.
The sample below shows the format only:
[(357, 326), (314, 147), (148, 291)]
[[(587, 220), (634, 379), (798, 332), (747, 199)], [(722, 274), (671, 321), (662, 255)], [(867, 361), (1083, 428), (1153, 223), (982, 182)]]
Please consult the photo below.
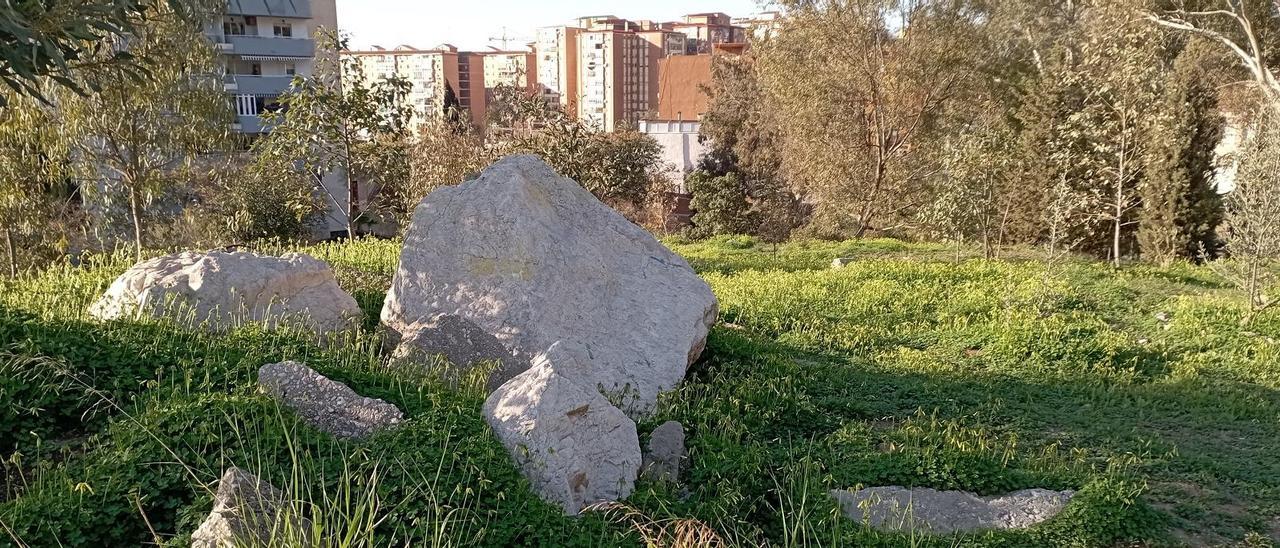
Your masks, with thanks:
[(291, 323), (321, 334), (355, 328), (361, 318), (356, 300), (319, 259), (224, 251), (138, 262), (111, 283), (90, 314), (102, 320), (168, 315), (212, 330)]

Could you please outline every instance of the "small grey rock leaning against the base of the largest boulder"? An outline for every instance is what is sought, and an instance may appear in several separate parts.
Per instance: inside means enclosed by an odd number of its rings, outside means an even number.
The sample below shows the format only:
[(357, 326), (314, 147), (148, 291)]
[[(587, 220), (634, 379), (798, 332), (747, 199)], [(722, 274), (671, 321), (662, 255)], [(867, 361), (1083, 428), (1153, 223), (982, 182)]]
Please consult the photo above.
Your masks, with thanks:
[(407, 332), (392, 352), (393, 366), (424, 365), (440, 356), (461, 373), (497, 362), (486, 383), (490, 393), (529, 367), (527, 361), (516, 360), (497, 337), (462, 316), (439, 314)]

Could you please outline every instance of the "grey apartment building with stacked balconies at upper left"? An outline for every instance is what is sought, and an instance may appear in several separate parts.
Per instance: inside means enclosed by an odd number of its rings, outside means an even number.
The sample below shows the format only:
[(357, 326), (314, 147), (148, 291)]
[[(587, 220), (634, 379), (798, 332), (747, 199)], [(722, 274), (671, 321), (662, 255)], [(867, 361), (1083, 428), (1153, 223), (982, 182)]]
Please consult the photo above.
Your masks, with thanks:
[(296, 74), (311, 74), (321, 27), (338, 27), (334, 0), (229, 0), (221, 23), (206, 28), (224, 60), (238, 132), (261, 133), (261, 114)]

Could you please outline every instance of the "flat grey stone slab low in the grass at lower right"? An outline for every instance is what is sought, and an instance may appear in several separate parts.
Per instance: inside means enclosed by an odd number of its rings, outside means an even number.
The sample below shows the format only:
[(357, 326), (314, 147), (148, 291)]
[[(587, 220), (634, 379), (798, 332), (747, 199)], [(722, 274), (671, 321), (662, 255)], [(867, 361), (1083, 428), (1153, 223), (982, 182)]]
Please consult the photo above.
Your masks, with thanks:
[(960, 490), (873, 487), (831, 494), (845, 516), (874, 529), (948, 534), (1029, 528), (1061, 512), (1075, 492), (1025, 489), (1004, 497), (978, 497)]

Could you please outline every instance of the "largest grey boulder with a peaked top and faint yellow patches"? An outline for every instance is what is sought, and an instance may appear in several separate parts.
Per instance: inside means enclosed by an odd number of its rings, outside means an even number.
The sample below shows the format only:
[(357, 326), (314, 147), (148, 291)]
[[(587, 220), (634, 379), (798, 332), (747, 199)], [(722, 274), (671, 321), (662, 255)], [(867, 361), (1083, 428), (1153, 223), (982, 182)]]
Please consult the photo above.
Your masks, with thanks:
[(439, 314), (521, 361), (557, 341), (589, 347), (593, 376), (576, 380), (643, 414), (698, 359), (717, 305), (648, 232), (538, 157), (509, 156), (413, 213), (381, 321), (398, 343)]

